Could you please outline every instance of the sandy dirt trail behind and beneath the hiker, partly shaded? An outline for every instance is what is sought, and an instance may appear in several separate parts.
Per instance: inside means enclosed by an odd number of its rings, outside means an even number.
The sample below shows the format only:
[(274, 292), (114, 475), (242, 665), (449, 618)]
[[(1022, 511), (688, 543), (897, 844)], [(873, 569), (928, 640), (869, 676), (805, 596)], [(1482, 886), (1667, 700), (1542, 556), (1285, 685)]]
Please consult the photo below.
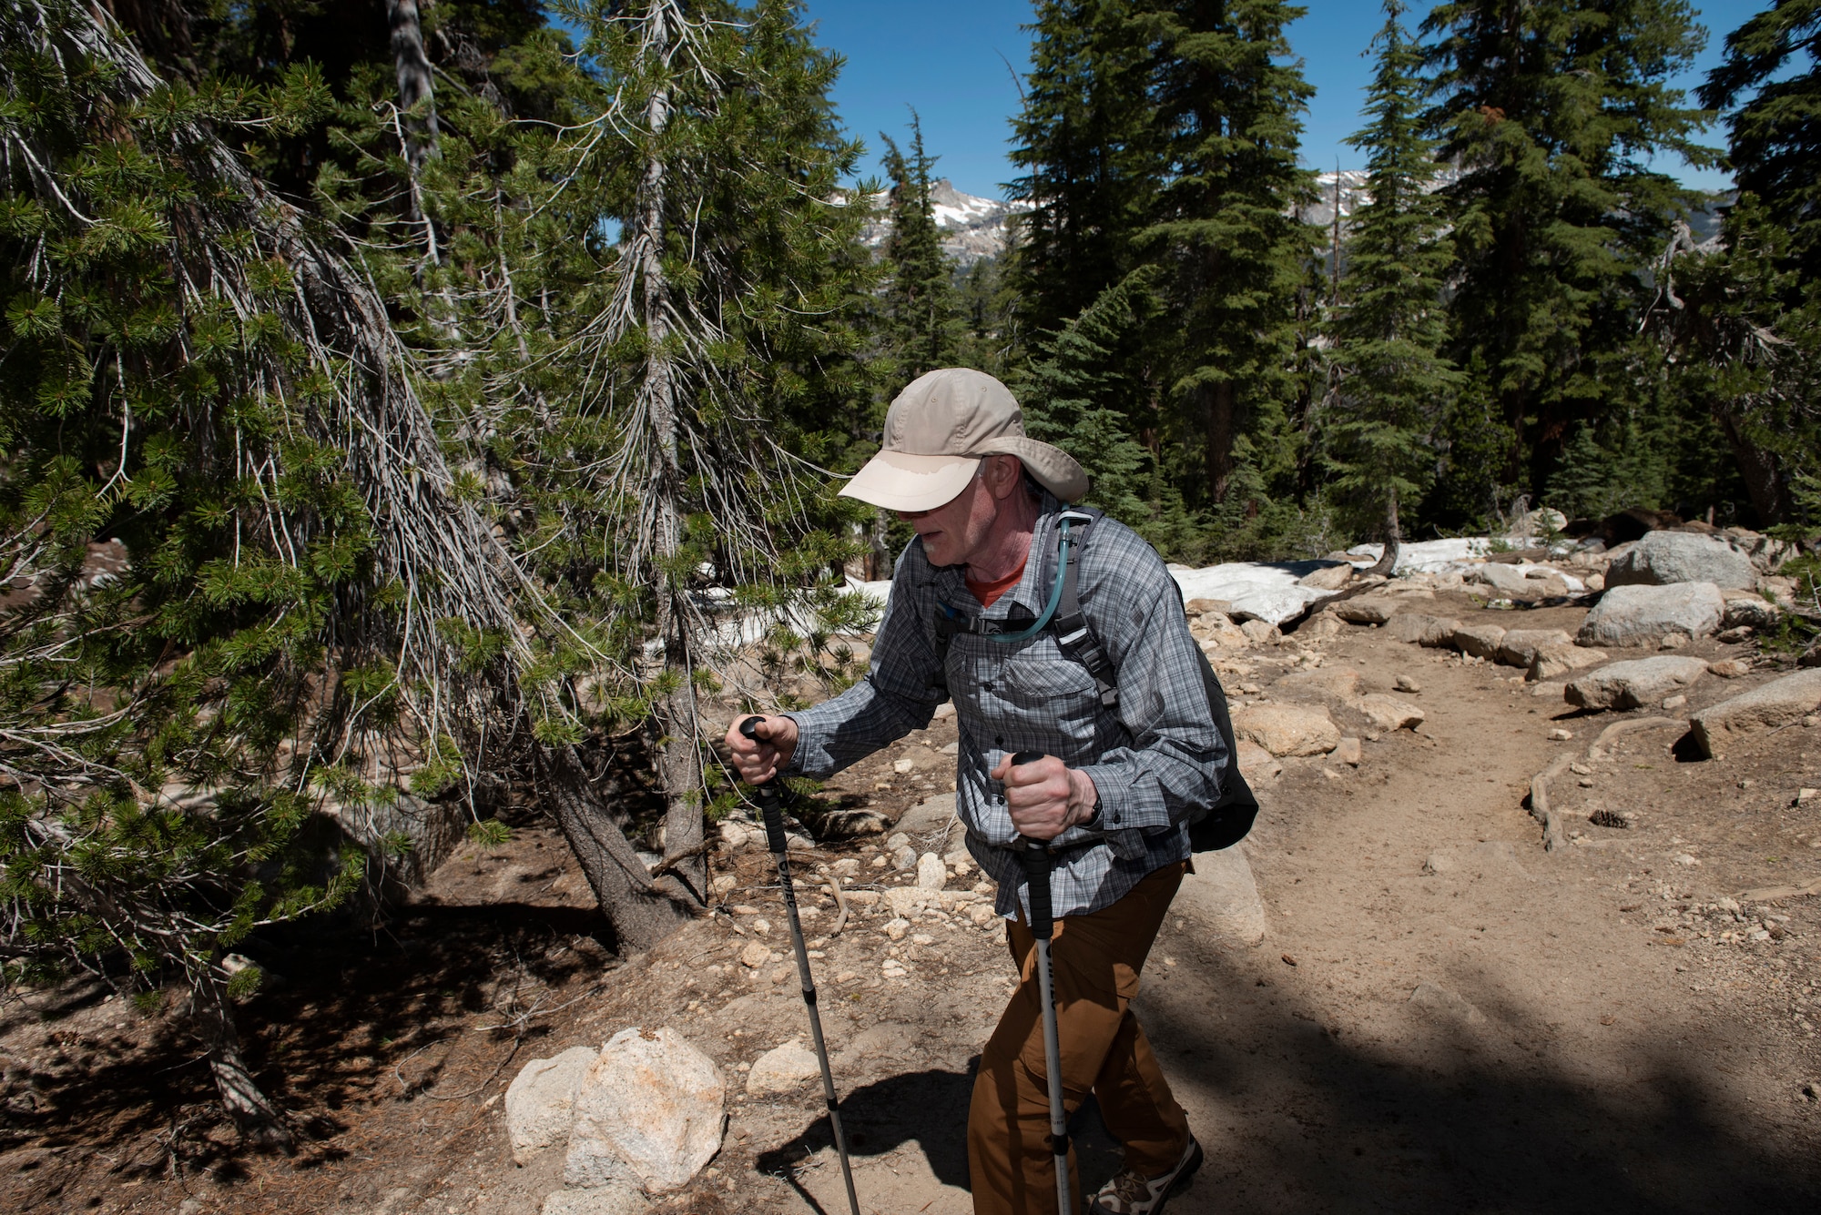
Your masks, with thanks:
[[(1728, 893), (1672, 860), (1684, 840), (1670, 828), (1539, 844), (1530, 778), (1619, 715), (1570, 715), (1510, 668), (1439, 662), (1371, 631), (1326, 649), (1326, 668), (1360, 671), (1368, 689), (1417, 677), (1428, 722), (1366, 742), (1357, 771), (1300, 760), (1262, 786), (1244, 846), (1269, 913), (1262, 946), (1209, 948), (1182, 917), (1160, 937), (1140, 1011), (1209, 1150), (1171, 1211), (1814, 1211), (1821, 1117), (1803, 1082), (1821, 1079), (1821, 1051), (1734, 995), (1774, 984), (1816, 1000), (1814, 908), (1741, 979), (1723, 951), (1697, 955), (1637, 915), (1675, 906), (1663, 880), (1670, 895)], [(1708, 680), (1690, 708), (1741, 689)], [(1575, 737), (1551, 742), (1557, 728)], [(1661, 773), (1670, 786), (1646, 798), (1657, 818), (1714, 826), (1735, 782), (1675, 764), (1679, 733), (1632, 735), (1624, 755), (1648, 764), (1621, 778)], [(1814, 782), (1799, 753), (1761, 768)], [(1697, 780), (1714, 788), (1675, 788)], [(1821, 855), (1808, 868), (1821, 873)], [(861, 1164), (876, 1210), (971, 1210), (965, 1091), (960, 1075), (927, 1080), (920, 1097), (945, 1104), (910, 1119), (921, 1139)], [(894, 1095), (863, 1088), (852, 1104), (883, 1119)], [(1078, 1122), (1098, 1180), (1113, 1144), (1091, 1111)], [(836, 1211), (829, 1180), (818, 1168), (809, 1190)]]

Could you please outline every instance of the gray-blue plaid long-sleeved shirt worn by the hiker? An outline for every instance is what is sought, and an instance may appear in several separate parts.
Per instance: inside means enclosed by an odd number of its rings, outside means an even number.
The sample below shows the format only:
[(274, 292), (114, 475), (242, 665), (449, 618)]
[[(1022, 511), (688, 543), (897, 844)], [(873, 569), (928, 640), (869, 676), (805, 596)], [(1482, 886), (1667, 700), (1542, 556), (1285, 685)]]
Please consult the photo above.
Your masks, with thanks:
[[(1029, 618), (1042, 615), (1056, 578), (1060, 509), (1043, 495), (1031, 560), (1016, 589), (985, 611), (989, 618), (1005, 618), (1014, 606)], [(949, 646), (947, 682), (961, 733), (956, 811), (967, 826), (967, 849), (1000, 884), (1002, 915), (1012, 915), (1016, 904), (1029, 911), (1023, 866), (1009, 851), (1018, 833), (1005, 789), (987, 778), (1007, 751), (1058, 755), (1100, 789), (1094, 826), (1069, 828), (1056, 840), (1056, 915), (1098, 911), (1153, 869), (1187, 860), (1184, 820), (1193, 808), (1218, 800), (1229, 762), (1213, 726), (1182, 595), (1162, 558), (1111, 518), (1089, 526), (1085, 538), (1082, 611), (1118, 673), (1116, 709), (1100, 704), (1087, 668), (1062, 653), (1053, 629), (1016, 644), (961, 633)], [(929, 726), (940, 697), (931, 686), (936, 604), (980, 613), (963, 571), (931, 566), (923, 542), (910, 542), (892, 573), (867, 677), (832, 700), (788, 715), (799, 731), (790, 771), (829, 777)]]

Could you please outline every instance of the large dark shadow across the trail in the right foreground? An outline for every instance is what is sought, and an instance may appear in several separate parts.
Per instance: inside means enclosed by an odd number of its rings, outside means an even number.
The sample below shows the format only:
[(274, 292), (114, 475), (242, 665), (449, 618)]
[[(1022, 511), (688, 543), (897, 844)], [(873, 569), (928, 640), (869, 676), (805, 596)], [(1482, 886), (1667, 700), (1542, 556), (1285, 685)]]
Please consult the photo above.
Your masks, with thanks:
[[(1284, 997), (1269, 1013), (1222, 1002), (1255, 979), (1218, 959), (1202, 973), (1202, 984), (1151, 993), (1144, 1015), (1207, 1148), (1171, 1215), (1821, 1210), (1814, 1153), (1772, 1142), (1774, 1111), (1759, 1124), (1723, 1113), (1717, 1077), (1673, 1048), (1626, 1060), (1613, 1091), (1561, 1053), (1488, 1049), (1464, 1028), (1437, 1026), (1397, 1055), (1353, 1046)], [(1215, 1008), (1226, 1011), (1218, 1033)], [(856, 1089), (843, 1100), (856, 1159), (916, 1144), (943, 1184), (965, 1190), (971, 1084), (914, 1071)], [(1118, 1168), (1118, 1144), (1091, 1104), (1073, 1130), (1093, 1191)], [(829, 1142), (816, 1119), (759, 1166), (790, 1177)]]

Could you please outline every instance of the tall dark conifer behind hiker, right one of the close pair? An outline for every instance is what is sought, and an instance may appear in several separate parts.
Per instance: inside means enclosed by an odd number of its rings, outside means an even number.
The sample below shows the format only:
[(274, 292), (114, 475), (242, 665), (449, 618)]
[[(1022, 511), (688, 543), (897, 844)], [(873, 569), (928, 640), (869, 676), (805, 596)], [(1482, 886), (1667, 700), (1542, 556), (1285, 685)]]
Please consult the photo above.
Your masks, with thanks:
[(1318, 236), (1295, 216), (1313, 187), (1297, 166), (1313, 89), (1284, 27), (1302, 13), (1282, 0), (1178, 0), (1138, 16), (1158, 49), (1151, 98), (1164, 155), (1138, 242), (1173, 271), (1160, 358), (1173, 438), (1200, 464), (1191, 500), (1226, 500), (1242, 435), (1255, 440), (1260, 484), (1298, 460), (1295, 300)]

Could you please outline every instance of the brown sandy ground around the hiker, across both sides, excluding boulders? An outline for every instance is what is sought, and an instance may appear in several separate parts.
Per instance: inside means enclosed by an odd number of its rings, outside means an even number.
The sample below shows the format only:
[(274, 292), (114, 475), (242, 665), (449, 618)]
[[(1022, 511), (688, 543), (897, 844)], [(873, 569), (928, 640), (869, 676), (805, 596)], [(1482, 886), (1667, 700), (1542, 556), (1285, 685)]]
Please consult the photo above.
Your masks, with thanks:
[[(1526, 628), (1579, 620), (1562, 608), (1513, 620), (1448, 597), (1437, 608)], [(1226, 682), (1260, 689), (1242, 700), (1320, 702), (1273, 688), (1302, 649), (1291, 637), (1249, 651)], [(1140, 1009), (1207, 1148), (1169, 1210), (1817, 1210), (1821, 899), (1739, 895), (1821, 877), (1821, 798), (1794, 804), (1821, 786), (1821, 731), (1695, 762), (1675, 748), (1681, 728), (1646, 728), (1586, 755), (1613, 720), (1684, 718), (1772, 671), (1708, 677), (1670, 713), (1581, 715), (1510, 668), (1375, 629), (1309, 649), (1320, 669), (1358, 671), (1366, 691), (1411, 677), (1422, 691), (1397, 695), (1428, 718), (1373, 738), (1329, 702), (1366, 737), (1358, 768), (1286, 760), (1260, 782), (1244, 848), (1264, 944), (1213, 944), (1187, 908), (1165, 926)], [(952, 788), (952, 720), (936, 722), (825, 797), (896, 817)], [(1524, 798), (1562, 751), (1584, 771), (1551, 797), (1579, 837), (1546, 853)], [(900, 758), (912, 771), (892, 771)], [(1588, 822), (1602, 808), (1635, 824)], [(878, 855), (874, 837), (801, 862), (805, 877), (821, 869), (805, 880), (805, 904), (819, 904), (807, 928), (860, 1193), (881, 1215), (960, 1213), (969, 1068), (1011, 964), (1000, 928), (965, 908), (892, 940), (887, 909), (852, 906), (836, 935), (838, 908), (810, 888), (849, 857), (860, 866), (845, 889), (901, 884)], [(233, 1146), (168, 1013), (82, 989), (11, 1006), (0, 1202), (532, 1215), (561, 1160), (510, 1164), (504, 1084), (532, 1057), (670, 1024), (721, 1062), (736, 1097), (721, 1155), (657, 1210), (832, 1215), (845, 1204), (816, 1089), (741, 1091), (743, 1064), (803, 1033), (770, 860), (743, 849), (716, 873), (732, 879), (717, 915), (617, 960), (590, 935), (561, 840), (523, 829), (444, 866), (388, 933), (271, 942), (260, 960), (282, 980), (248, 1009), (248, 1049), (302, 1130), (295, 1160)], [(756, 968), (738, 960), (754, 940), (774, 953)], [(903, 977), (883, 977), (887, 962)], [(1098, 1184), (1116, 1144), (1093, 1108), (1078, 1133)]]

